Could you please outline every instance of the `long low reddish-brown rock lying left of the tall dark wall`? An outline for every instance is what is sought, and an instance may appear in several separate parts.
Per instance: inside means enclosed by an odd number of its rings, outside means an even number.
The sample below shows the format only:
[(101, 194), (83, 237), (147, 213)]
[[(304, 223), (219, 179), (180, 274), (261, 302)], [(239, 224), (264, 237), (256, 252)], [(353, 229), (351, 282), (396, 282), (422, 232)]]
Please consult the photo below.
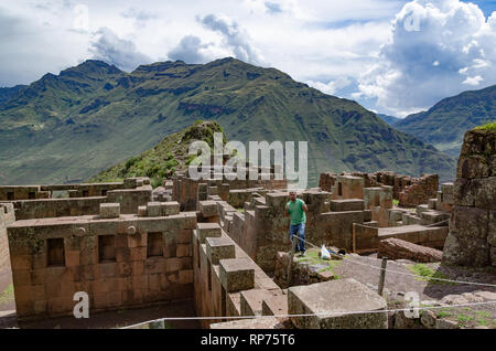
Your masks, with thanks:
[(387, 238), (379, 242), (377, 257), (389, 259), (411, 259), (414, 262), (440, 262), (443, 253), (439, 249), (417, 245), (399, 238)]

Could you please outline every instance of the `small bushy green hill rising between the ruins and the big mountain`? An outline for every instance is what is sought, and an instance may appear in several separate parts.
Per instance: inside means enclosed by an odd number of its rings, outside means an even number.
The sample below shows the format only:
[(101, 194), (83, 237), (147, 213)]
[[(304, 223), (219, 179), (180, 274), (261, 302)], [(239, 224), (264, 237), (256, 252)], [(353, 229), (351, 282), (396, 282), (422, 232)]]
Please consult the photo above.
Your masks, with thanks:
[(110, 167), (88, 181), (112, 182), (130, 177), (150, 177), (153, 185), (161, 184), (164, 177), (187, 169), (192, 159), (187, 153), (192, 141), (203, 140), (213, 148), (214, 132), (224, 132), (217, 123), (197, 121), (191, 127), (166, 136), (154, 148)]

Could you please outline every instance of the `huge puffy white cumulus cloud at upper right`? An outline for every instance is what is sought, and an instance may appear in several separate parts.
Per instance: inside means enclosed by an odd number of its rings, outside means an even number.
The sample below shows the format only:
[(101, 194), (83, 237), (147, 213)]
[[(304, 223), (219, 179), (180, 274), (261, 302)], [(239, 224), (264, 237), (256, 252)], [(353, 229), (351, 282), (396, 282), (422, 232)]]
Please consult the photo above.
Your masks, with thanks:
[(360, 77), (355, 98), (405, 116), (471, 88), (496, 83), (496, 12), (474, 3), (411, 1), (396, 15), (381, 61)]

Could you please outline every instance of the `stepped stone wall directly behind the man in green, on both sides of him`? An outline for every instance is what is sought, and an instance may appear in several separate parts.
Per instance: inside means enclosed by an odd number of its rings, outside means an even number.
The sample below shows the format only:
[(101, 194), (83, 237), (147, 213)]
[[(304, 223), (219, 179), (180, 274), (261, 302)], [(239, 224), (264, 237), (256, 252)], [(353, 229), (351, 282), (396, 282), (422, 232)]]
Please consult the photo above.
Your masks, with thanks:
[[(305, 240), (352, 249), (353, 223), (371, 220), (371, 212), (364, 210), (364, 201), (337, 202), (338, 211), (331, 211), (334, 201), (328, 192), (309, 190), (299, 193), (305, 201)], [(290, 247), (289, 217), (284, 215), (288, 192), (257, 193), (246, 203), (245, 212), (234, 212), (225, 217), (224, 225), (229, 236), (250, 255), (265, 270), (274, 270), (277, 253)], [(334, 206), (334, 204), (333, 204)], [(309, 246), (309, 245), (308, 245)]]

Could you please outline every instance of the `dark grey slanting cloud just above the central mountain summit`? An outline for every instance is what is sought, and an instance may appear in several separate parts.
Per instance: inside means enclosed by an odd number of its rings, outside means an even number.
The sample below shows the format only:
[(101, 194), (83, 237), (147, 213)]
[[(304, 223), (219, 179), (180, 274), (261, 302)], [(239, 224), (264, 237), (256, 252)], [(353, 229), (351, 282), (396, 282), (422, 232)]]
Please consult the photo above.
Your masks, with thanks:
[(215, 14), (207, 14), (203, 19), (198, 18), (197, 21), (206, 29), (219, 33), (223, 36), (223, 45), (230, 49), (236, 59), (252, 64), (262, 62), (258, 51), (250, 44), (248, 33), (236, 21)]

